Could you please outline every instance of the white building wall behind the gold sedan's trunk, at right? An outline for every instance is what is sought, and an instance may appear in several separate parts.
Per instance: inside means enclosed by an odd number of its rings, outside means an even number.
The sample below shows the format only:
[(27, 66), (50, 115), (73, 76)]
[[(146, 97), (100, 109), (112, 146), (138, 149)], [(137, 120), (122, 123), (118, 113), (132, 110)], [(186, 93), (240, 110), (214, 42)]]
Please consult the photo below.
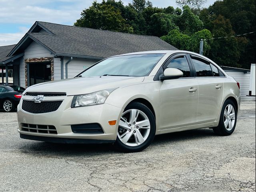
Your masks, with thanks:
[(250, 87), (250, 73), (244, 73), (235, 70), (225, 70), (225, 72), (232, 76), (237, 82), (240, 84), (240, 92), (241, 92), (241, 101), (250, 101), (254, 100), (255, 97), (246, 96), (249, 94)]

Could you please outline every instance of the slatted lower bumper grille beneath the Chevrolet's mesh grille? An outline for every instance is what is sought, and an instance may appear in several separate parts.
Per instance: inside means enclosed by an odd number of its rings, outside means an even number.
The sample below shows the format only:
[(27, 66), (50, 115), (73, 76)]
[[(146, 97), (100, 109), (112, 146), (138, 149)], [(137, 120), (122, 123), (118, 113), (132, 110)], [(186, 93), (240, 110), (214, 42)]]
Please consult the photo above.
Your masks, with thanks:
[(57, 130), (53, 125), (35, 125), (21, 123), (21, 130), (33, 133), (57, 134)]

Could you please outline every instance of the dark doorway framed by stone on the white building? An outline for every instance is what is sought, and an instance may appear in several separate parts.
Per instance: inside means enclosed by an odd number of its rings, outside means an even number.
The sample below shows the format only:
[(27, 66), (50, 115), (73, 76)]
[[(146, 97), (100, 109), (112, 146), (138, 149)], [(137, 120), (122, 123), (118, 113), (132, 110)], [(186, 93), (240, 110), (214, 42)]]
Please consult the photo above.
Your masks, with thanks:
[(51, 63), (29, 63), (29, 86), (51, 80)]

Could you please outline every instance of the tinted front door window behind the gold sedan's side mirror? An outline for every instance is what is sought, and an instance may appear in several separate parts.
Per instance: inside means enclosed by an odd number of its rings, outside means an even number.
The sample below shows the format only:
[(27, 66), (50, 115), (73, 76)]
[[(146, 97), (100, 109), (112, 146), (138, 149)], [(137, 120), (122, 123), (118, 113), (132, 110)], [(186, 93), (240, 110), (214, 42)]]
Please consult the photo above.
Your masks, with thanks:
[(190, 77), (190, 68), (188, 66), (188, 61), (185, 56), (177, 57), (171, 60), (166, 68), (176, 68), (183, 72), (182, 77)]

